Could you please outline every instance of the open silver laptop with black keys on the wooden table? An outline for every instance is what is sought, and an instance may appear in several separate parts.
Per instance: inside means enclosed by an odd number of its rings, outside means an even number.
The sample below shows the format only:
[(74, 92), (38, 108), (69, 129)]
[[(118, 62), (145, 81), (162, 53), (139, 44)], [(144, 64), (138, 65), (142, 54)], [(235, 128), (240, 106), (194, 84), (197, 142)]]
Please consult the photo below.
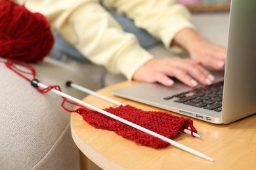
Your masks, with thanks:
[(224, 71), (195, 89), (140, 82), (112, 94), (213, 124), (229, 124), (256, 113), (256, 1), (232, 0)]

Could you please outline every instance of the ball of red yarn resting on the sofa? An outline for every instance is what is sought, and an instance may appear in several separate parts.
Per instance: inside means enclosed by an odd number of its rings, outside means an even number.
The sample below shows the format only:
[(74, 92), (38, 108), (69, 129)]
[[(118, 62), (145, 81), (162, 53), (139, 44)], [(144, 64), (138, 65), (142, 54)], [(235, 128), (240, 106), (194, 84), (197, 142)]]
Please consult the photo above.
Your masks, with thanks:
[(53, 48), (51, 26), (45, 16), (24, 5), (0, 0), (0, 56), (18, 61), (41, 61)]

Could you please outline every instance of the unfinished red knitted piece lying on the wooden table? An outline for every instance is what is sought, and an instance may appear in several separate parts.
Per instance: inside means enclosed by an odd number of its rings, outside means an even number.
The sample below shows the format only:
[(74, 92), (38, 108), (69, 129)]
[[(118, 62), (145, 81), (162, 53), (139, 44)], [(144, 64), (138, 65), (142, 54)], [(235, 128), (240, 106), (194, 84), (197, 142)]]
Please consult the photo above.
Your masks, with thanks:
[[(192, 132), (197, 132), (192, 120), (174, 116), (167, 112), (144, 111), (130, 105), (119, 106), (117, 108), (110, 107), (104, 110), (169, 139), (176, 137), (179, 131), (183, 131), (183, 129), (190, 129)], [(165, 148), (169, 146), (169, 143), (158, 137), (148, 135), (94, 110), (79, 108), (75, 111), (83, 116), (83, 120), (93, 127), (116, 131), (117, 135), (121, 135), (145, 146), (152, 146), (153, 148)]]

